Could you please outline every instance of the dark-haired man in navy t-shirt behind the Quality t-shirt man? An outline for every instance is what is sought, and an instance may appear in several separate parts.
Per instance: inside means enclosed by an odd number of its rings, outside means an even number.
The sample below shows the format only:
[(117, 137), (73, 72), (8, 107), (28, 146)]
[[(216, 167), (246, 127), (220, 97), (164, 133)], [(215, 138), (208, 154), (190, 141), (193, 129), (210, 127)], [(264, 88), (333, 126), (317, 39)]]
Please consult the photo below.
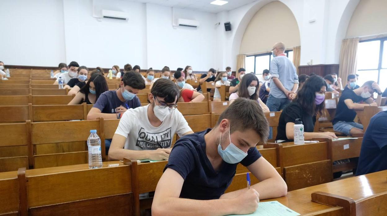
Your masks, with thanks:
[(127, 109), (141, 106), (136, 94), (144, 88), (145, 82), (141, 74), (134, 71), (126, 72), (120, 82), (120, 88), (99, 95), (98, 100), (87, 114), (87, 120), (99, 117), (120, 119)]

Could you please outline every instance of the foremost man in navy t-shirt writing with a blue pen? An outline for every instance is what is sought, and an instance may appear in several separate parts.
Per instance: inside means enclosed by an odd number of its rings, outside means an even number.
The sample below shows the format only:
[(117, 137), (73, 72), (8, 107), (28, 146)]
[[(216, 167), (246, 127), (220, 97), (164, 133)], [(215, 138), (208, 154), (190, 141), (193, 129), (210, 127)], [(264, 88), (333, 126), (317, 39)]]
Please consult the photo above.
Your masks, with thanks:
[[(236, 99), (215, 128), (176, 141), (156, 187), (152, 215), (249, 214), (260, 199), (285, 196), (286, 183), (255, 148), (268, 136), (269, 124), (259, 103)], [(238, 163), (259, 183), (224, 194)]]

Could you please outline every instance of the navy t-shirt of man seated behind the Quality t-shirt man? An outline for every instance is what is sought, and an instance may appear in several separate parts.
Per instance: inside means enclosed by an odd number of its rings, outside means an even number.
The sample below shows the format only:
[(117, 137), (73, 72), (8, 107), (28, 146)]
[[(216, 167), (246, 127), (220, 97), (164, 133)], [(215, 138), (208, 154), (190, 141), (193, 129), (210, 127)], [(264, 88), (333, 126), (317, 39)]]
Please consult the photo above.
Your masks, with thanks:
[(122, 102), (115, 90), (106, 91), (99, 95), (98, 100), (94, 104), (93, 107), (98, 108), (102, 113), (116, 113), (116, 108), (119, 106), (123, 106), (127, 108), (125, 105), (127, 104), (129, 108), (137, 108), (141, 106), (140, 100), (137, 95), (132, 100), (126, 100)]

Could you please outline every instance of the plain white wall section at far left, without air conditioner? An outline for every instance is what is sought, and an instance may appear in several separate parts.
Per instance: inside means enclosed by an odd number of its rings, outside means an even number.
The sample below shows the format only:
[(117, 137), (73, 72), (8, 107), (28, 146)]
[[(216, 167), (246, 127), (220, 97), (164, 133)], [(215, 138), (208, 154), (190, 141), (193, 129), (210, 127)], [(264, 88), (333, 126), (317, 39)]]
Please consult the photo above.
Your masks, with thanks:
[(65, 60), (62, 0), (2, 0), (0, 61), (57, 66)]

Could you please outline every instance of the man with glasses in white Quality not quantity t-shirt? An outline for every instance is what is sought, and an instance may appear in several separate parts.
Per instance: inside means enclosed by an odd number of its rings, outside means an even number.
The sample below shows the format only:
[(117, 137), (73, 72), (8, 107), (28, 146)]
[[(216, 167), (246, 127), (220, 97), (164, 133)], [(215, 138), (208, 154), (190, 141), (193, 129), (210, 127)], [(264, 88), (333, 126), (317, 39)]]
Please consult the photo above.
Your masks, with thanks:
[(150, 104), (123, 114), (111, 141), (109, 160), (168, 160), (175, 133), (179, 137), (194, 133), (176, 109), (178, 96), (172, 80), (154, 82), (148, 94)]

